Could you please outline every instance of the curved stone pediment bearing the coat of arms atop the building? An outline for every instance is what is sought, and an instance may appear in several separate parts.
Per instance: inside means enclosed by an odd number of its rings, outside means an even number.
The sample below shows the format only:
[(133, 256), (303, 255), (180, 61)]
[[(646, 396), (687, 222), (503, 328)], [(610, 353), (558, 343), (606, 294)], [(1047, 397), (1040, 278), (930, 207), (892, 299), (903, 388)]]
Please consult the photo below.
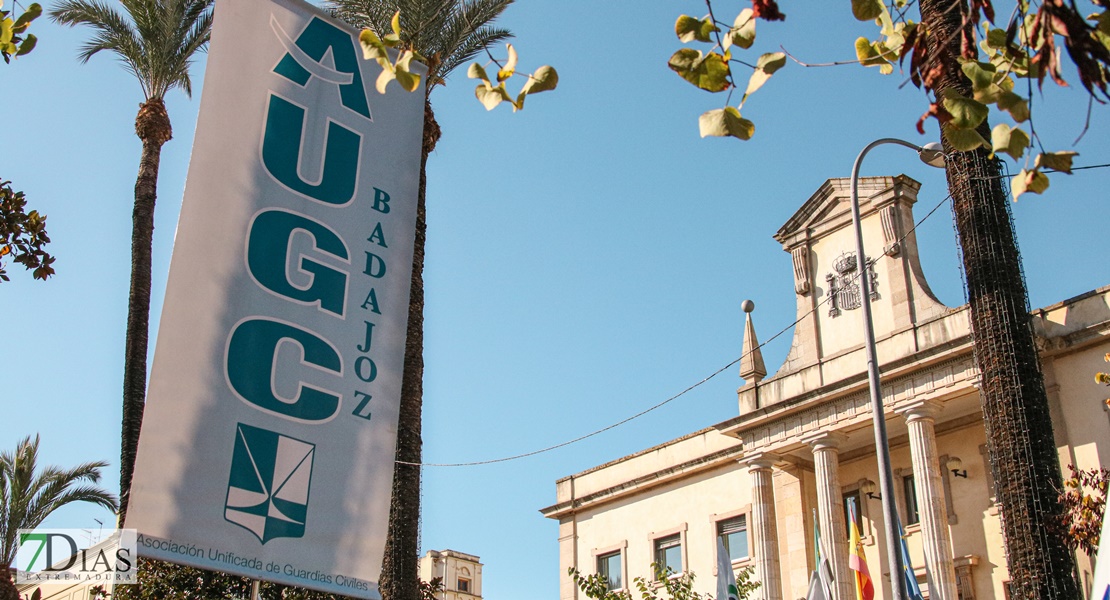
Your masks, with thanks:
[[(850, 181), (827, 180), (775, 234), (794, 266), (798, 323), (783, 366), (739, 390), (740, 413), (858, 377), (869, 302), (880, 364), (895, 363), (968, 334), (966, 315), (942, 305), (921, 272), (912, 206), (921, 184), (906, 175), (861, 177), (857, 256)], [(871, 284), (864, 298), (860, 277)]]

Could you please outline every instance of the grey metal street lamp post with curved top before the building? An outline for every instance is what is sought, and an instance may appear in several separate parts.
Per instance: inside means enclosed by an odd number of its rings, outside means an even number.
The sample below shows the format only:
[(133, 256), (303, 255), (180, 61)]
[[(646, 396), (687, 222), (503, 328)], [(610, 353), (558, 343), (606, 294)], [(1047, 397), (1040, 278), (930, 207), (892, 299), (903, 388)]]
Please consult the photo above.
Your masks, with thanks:
[[(877, 145), (899, 144), (917, 151), (921, 162), (942, 167), (945, 165), (945, 154), (940, 151), (940, 144), (930, 143), (925, 146), (884, 138), (867, 145), (856, 163), (851, 166), (851, 224), (856, 230), (856, 253), (859, 260), (859, 287), (862, 302), (860, 307), (864, 313), (864, 346), (867, 348), (867, 383), (871, 393), (871, 420), (875, 427), (875, 451), (879, 462), (879, 486), (882, 489), (882, 518), (886, 520), (887, 537), (887, 563), (890, 565), (890, 588), (897, 600), (907, 598), (905, 589), (905, 568), (901, 560), (901, 545), (898, 535), (898, 516), (895, 510), (895, 484), (890, 471), (890, 447), (887, 443), (887, 420), (886, 411), (882, 408), (882, 388), (879, 385), (879, 363), (875, 353), (875, 323), (871, 321), (871, 279), (868, 276), (867, 254), (864, 253), (864, 230), (859, 223), (859, 167), (864, 162), (864, 156)], [(947, 599), (945, 599), (947, 600)]]

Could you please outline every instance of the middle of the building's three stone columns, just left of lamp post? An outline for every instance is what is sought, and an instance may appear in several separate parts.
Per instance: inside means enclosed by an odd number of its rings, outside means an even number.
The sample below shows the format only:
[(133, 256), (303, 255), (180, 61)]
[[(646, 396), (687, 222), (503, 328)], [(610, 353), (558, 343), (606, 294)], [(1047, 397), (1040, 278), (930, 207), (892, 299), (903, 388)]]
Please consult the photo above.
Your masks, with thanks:
[(844, 522), (844, 494), (840, 491), (839, 447), (847, 439), (844, 434), (823, 431), (803, 440), (814, 450), (821, 558), (829, 561), (833, 577), (836, 578), (834, 600), (851, 600), (856, 597), (856, 588), (848, 571), (848, 533)]

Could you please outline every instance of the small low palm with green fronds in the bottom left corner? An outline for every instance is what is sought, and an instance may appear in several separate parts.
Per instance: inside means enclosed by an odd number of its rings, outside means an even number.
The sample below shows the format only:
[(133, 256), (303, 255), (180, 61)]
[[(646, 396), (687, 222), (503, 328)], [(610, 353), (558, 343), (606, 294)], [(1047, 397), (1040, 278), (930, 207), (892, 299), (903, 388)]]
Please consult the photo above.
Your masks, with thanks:
[[(37, 469), (39, 436), (23, 438), (14, 454), (0, 452), (0, 600), (18, 600), (11, 581), (16, 560), (16, 535), (34, 529), (51, 512), (70, 502), (92, 502), (115, 511), (115, 497), (92, 485), (108, 462), (85, 462), (71, 469), (54, 466)], [(38, 472), (36, 472), (38, 470)]]

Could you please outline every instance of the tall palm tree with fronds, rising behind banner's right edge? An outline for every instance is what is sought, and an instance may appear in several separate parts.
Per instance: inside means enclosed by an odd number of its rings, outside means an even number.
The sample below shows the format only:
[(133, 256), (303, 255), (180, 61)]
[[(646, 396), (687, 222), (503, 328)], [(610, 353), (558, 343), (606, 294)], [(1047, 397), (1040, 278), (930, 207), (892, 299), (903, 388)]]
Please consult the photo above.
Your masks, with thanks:
[(421, 148), (416, 240), (413, 248), (412, 289), (401, 411), (397, 421), (397, 462), (393, 471), (390, 533), (379, 587), (386, 600), (417, 600), (416, 573), (420, 535), (421, 406), (424, 377), (424, 241), (427, 156), (440, 140), (440, 124), (432, 112), (432, 91), (460, 65), (491, 45), (512, 38), (491, 27), (513, 0), (329, 0), (336, 17), (369, 28), (380, 38), (392, 33), (390, 21), (401, 13), (402, 42), (427, 59), (424, 95), (424, 139)]

